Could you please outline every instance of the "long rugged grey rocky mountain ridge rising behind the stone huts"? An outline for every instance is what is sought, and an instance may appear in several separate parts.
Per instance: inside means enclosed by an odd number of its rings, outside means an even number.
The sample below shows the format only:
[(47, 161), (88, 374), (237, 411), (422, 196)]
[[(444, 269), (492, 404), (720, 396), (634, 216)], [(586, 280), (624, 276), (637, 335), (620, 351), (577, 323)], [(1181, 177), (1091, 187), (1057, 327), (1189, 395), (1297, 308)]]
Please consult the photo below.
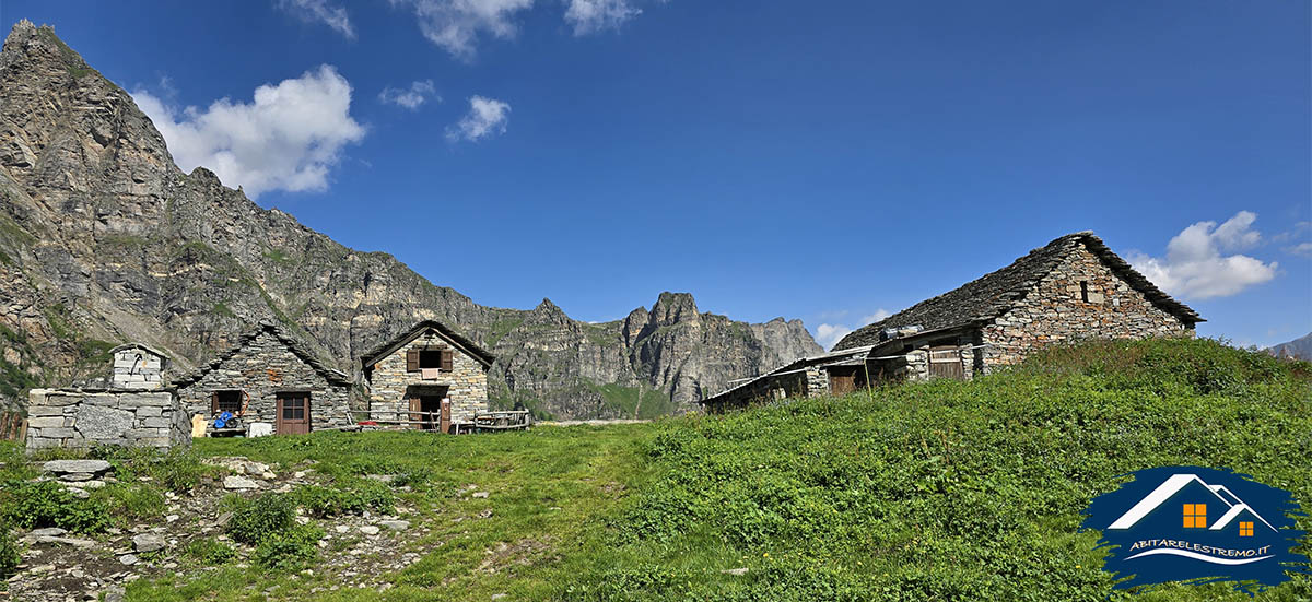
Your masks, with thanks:
[[(198, 168), (182, 173), (119, 87), (50, 28), (0, 52), (0, 397), (66, 384), (140, 341), (186, 370), (277, 320), (348, 372), (416, 320), (493, 351), (493, 396), (559, 417), (677, 412), (820, 348), (798, 320), (744, 324), (661, 294), (625, 320), (483, 307), (386, 253), (335, 243)], [(635, 395), (636, 393), (636, 395)]]

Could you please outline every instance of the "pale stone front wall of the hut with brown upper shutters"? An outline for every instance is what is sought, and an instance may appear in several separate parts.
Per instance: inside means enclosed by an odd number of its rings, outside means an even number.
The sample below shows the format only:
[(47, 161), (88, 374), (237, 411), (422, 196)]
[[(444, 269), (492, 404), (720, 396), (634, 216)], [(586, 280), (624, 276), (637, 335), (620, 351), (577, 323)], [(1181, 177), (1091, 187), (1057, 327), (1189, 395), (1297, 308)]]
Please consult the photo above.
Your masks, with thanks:
[[(441, 370), (433, 380), (425, 380), (421, 372), (405, 371), (405, 353), (425, 348), (454, 350), (451, 370)], [(379, 359), (366, 374), (366, 383), (369, 417), (373, 420), (407, 420), (411, 396), (437, 395), (442, 387), (446, 387), (446, 396), (451, 400), (453, 422), (472, 422), (475, 413), (488, 411), (487, 366), (434, 331)]]

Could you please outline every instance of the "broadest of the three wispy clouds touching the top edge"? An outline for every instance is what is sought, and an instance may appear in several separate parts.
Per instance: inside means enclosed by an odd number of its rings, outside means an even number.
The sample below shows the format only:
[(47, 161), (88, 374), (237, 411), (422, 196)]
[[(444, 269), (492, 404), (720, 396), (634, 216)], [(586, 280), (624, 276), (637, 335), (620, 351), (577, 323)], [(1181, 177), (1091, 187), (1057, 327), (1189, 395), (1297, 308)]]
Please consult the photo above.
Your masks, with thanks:
[(474, 58), (480, 34), (512, 38), (512, 17), (533, 7), (533, 0), (391, 0), (394, 7), (409, 7), (419, 29), (430, 42), (462, 58)]

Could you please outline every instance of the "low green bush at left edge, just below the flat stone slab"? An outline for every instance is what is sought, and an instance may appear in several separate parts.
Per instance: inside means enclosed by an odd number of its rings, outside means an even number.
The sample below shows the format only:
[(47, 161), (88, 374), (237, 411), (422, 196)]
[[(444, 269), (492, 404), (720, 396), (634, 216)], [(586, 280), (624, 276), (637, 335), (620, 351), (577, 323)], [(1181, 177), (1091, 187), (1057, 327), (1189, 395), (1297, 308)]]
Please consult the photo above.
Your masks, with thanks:
[(55, 481), (22, 483), (4, 492), (5, 518), (22, 529), (59, 527), (77, 532), (100, 532), (109, 527), (110, 515), (97, 498), (80, 500)]

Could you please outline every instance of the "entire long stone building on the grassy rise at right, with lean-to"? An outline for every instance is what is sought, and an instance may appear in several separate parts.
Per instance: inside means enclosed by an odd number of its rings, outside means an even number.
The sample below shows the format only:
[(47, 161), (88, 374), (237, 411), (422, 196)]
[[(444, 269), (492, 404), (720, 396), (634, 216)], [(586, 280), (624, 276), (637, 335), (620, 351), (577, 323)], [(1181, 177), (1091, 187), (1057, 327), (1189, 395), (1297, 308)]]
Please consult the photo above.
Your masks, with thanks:
[(719, 412), (770, 399), (844, 393), (876, 380), (970, 379), (1050, 345), (1193, 336), (1200, 321), (1093, 232), (1078, 232), (854, 331), (828, 354), (707, 397), (702, 407)]

